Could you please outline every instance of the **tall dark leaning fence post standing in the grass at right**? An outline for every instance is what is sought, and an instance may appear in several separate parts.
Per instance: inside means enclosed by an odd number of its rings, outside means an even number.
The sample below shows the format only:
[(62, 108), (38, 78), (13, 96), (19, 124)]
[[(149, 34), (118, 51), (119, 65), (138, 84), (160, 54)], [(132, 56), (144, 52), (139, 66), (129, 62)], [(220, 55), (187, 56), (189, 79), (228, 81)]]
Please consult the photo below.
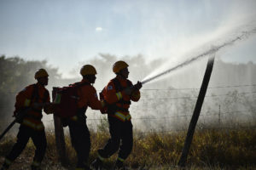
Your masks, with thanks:
[(194, 132), (195, 132), (195, 126), (196, 126), (196, 123), (197, 123), (198, 118), (200, 116), (201, 106), (202, 106), (203, 101), (205, 99), (205, 96), (207, 94), (207, 87), (208, 87), (208, 83), (210, 81), (210, 77), (212, 75), (213, 63), (214, 63), (214, 56), (208, 59), (207, 70), (205, 72), (205, 76), (204, 76), (203, 82), (201, 84), (201, 89), (200, 89), (198, 99), (197, 99), (196, 104), (195, 104), (195, 110), (194, 110), (193, 116), (192, 116), (191, 121), (189, 123), (189, 129), (188, 129), (187, 137), (186, 137), (186, 140), (185, 140), (185, 144), (183, 146), (182, 155), (181, 155), (181, 157), (178, 161), (178, 166), (179, 167), (185, 167), (185, 164), (186, 164), (186, 161), (187, 161), (190, 144), (192, 142), (193, 135), (194, 135)]

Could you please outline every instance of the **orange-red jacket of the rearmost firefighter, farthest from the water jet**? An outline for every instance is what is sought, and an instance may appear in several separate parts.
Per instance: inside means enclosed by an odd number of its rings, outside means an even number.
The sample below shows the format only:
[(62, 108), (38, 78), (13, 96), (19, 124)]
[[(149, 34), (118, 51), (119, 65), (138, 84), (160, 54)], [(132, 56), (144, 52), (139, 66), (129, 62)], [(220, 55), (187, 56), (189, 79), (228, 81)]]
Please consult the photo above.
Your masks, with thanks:
[(23, 118), (21, 125), (26, 127), (32, 127), (34, 130), (43, 130), (44, 124), (41, 121), (43, 115), (43, 105), (49, 103), (49, 91), (39, 83), (32, 84), (24, 88), (16, 96), (15, 103), (15, 116), (34, 103), (38, 104), (37, 109), (32, 108), (26, 112), (26, 116)]

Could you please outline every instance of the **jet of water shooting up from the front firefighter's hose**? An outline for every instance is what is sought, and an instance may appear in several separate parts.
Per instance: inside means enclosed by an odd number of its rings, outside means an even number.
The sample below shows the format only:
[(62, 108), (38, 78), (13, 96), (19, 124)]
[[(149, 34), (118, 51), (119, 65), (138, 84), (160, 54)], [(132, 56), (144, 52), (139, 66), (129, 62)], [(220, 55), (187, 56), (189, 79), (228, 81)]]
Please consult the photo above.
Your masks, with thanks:
[(144, 80), (142, 82), (142, 84), (145, 84), (145, 83), (150, 82), (150, 81), (152, 81), (152, 80), (154, 80), (154, 79), (156, 79), (158, 77), (166, 75), (166, 74), (168, 74), (168, 73), (170, 73), (172, 71), (175, 71), (175, 70), (177, 70), (177, 69), (179, 69), (179, 68), (181, 68), (181, 67), (183, 67), (185, 65), (189, 65), (190, 63), (192, 63), (192, 62), (194, 62), (194, 61), (196, 61), (198, 59), (201, 59), (203, 57), (206, 57), (209, 54), (215, 54), (216, 52), (218, 52), (219, 49), (227, 47), (227, 46), (230, 46), (230, 45), (232, 45), (234, 42), (236, 42), (238, 40), (246, 39), (247, 37), (250, 37), (250, 35), (252, 35), (254, 33), (256, 33), (256, 28), (253, 28), (253, 30), (251, 30), (251, 31), (243, 31), (241, 33), (241, 36), (238, 36), (238, 37), (236, 37), (236, 38), (234, 38), (234, 39), (232, 39), (232, 40), (230, 40), (228, 42), (224, 42), (222, 45), (219, 45), (219, 46), (216, 46), (216, 47), (212, 47), (211, 49), (207, 50), (206, 52), (204, 52), (202, 54), (199, 54), (199, 55), (193, 57), (192, 59), (189, 59), (189, 60), (183, 62), (182, 64), (176, 65), (176, 66), (172, 67), (171, 69), (169, 69), (167, 71), (163, 71), (163, 72), (161, 72), (160, 74), (158, 74), (158, 75), (156, 75), (154, 77), (148, 78), (148, 79)]

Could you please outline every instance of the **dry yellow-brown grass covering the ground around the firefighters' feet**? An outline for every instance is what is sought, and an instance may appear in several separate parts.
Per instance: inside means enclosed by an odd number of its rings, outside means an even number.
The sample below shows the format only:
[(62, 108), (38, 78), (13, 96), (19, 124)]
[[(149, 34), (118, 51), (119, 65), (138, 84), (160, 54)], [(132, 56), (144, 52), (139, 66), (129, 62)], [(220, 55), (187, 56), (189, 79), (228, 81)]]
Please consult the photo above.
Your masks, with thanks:
[[(125, 164), (131, 169), (178, 169), (177, 161), (183, 148), (185, 132), (140, 133), (134, 132), (134, 146)], [(42, 169), (73, 169), (76, 154), (66, 137), (67, 166), (61, 167), (55, 150), (54, 133), (47, 133), (48, 148)], [(91, 132), (90, 160), (96, 158), (96, 150), (108, 140), (108, 133)], [(6, 137), (0, 143), (0, 164), (8, 154), (15, 137)], [(11, 170), (29, 169), (34, 153), (32, 141), (15, 160)], [(116, 159), (112, 156), (105, 162), (111, 169)], [(189, 150), (187, 169), (256, 169), (255, 129), (212, 129), (196, 131)]]

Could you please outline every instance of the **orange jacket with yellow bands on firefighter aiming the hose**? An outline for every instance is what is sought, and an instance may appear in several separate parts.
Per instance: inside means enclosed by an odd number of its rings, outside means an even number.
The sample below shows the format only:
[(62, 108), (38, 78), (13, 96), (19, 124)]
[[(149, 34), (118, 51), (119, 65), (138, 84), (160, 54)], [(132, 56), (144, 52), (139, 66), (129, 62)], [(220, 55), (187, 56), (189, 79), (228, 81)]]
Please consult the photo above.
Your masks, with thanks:
[(140, 99), (140, 92), (137, 89), (131, 95), (125, 94), (125, 88), (131, 86), (132, 82), (130, 80), (119, 77), (115, 77), (108, 82), (108, 85), (102, 91), (104, 99), (113, 108), (108, 111), (108, 116), (113, 116), (122, 122), (131, 120), (129, 112), (131, 100), (138, 101)]

